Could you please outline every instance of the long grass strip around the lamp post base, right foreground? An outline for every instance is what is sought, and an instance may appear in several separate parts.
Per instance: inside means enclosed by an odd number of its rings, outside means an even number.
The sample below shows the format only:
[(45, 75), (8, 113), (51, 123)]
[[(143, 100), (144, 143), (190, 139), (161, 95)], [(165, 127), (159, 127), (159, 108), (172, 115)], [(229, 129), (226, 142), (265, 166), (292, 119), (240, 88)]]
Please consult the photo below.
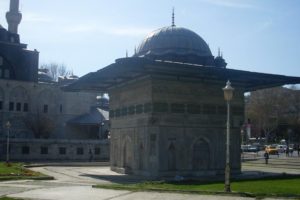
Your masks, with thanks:
[[(144, 182), (138, 184), (97, 185), (95, 187), (123, 190), (155, 190), (192, 192), (202, 194), (222, 194), (224, 183), (183, 182)], [(233, 181), (232, 194), (249, 197), (295, 197), (300, 198), (300, 177), (281, 176), (260, 180)]]

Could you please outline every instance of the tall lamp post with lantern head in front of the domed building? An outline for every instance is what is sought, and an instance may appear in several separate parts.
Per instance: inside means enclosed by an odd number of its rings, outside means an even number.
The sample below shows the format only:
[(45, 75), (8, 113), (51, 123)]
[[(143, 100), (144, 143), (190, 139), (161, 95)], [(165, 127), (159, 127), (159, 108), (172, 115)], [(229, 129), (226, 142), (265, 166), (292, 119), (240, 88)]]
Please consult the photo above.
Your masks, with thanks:
[(225, 166), (225, 192), (231, 192), (230, 189), (230, 101), (232, 99), (234, 88), (228, 80), (223, 88), (224, 98), (227, 101), (227, 132), (226, 132), (226, 166)]

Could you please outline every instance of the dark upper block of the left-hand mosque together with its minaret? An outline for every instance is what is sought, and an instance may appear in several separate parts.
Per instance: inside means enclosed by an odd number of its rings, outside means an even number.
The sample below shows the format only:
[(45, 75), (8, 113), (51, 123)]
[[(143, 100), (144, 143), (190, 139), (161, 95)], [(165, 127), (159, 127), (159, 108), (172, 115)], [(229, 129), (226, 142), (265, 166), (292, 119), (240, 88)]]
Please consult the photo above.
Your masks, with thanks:
[(6, 19), (8, 30), (0, 25), (0, 78), (37, 82), (39, 52), (28, 50), (27, 45), (20, 42), (19, 0), (11, 0)]

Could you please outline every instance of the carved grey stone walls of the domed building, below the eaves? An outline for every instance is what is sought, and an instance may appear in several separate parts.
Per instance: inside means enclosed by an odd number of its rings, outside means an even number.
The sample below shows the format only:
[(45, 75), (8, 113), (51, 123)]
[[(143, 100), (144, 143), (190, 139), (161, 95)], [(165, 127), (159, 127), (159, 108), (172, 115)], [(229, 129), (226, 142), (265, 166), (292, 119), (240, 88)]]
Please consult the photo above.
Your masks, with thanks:
[[(111, 88), (112, 170), (148, 176), (223, 174), (224, 85), (152, 76)], [(231, 116), (231, 167), (239, 173), (244, 96), (238, 88)]]

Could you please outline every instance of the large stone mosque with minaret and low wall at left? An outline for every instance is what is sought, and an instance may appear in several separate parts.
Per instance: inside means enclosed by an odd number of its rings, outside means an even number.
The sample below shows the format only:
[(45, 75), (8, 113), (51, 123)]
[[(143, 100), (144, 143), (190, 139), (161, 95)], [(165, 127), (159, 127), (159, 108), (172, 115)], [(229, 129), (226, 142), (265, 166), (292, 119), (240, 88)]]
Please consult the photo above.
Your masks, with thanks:
[[(12, 160), (108, 159), (108, 100), (99, 92), (66, 92), (78, 77), (53, 81), (38, 69), (39, 52), (20, 42), (19, 0), (0, 25), (0, 159), (7, 136)], [(98, 98), (96, 98), (98, 96)]]

